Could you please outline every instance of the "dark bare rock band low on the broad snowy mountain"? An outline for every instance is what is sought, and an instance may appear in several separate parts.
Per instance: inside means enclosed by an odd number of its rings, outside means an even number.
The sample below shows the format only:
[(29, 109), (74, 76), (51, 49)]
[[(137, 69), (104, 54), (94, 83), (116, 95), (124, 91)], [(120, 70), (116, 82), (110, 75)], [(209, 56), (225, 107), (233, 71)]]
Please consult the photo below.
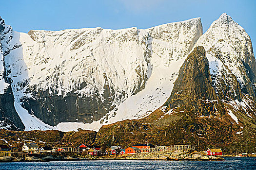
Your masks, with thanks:
[(98, 100), (98, 93), (81, 96), (72, 91), (65, 96), (59, 96), (46, 90), (33, 91), (33, 96), (34, 98), (24, 97), (22, 107), (51, 126), (56, 126), (59, 122), (91, 123), (102, 118), (114, 107), (108, 88), (104, 91), (104, 102)]

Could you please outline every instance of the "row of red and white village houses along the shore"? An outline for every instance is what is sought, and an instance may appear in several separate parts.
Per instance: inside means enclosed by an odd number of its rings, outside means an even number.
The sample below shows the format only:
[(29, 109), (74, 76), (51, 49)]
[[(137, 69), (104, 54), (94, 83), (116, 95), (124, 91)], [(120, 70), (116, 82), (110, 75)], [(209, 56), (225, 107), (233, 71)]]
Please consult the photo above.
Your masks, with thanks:
[[(102, 155), (124, 155), (124, 154), (136, 154), (136, 153), (150, 153), (150, 152), (162, 152), (162, 151), (195, 151), (195, 146), (192, 145), (170, 145), (170, 146), (155, 146), (152, 144), (136, 144), (126, 149), (122, 149), (121, 146), (111, 146), (110, 148), (102, 151), (98, 145), (85, 145), (81, 144), (77, 148), (71, 147), (39, 147), (36, 143), (24, 143), (22, 146), (23, 153), (62, 153), (62, 152), (75, 152), (89, 154), (93, 156)], [(12, 149), (6, 145), (0, 145), (0, 152), (10, 152)], [(221, 149), (208, 149), (205, 152), (207, 155), (222, 156)], [(247, 154), (247, 153), (246, 153)], [(241, 157), (246, 155), (241, 154)]]

